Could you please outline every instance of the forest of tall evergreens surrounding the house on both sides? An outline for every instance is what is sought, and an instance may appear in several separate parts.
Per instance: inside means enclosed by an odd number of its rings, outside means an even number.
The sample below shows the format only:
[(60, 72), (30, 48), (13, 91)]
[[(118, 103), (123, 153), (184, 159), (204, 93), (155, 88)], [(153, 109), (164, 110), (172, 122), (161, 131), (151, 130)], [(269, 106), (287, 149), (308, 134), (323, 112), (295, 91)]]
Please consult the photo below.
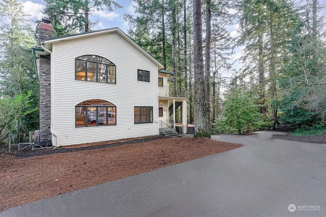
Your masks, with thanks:
[[(319, 1), (130, 2), (133, 10), (123, 17), (127, 34), (174, 73), (170, 91), (187, 97), (187, 120), (198, 137), (276, 128), (326, 132)], [(44, 5), (55, 37), (96, 30), (101, 25), (92, 16), (122, 7), (110, 0), (45, 0)], [(0, 1), (0, 142), (8, 133), (39, 127), (31, 48), (38, 45), (40, 19), (32, 28), (23, 9), (17, 0)]]

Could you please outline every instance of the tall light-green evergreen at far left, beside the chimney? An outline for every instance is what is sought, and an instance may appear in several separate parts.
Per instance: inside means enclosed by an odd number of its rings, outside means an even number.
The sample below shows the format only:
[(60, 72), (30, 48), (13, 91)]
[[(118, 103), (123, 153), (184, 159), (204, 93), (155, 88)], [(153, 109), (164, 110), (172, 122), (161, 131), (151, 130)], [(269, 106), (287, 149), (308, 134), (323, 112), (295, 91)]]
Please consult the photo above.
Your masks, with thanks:
[[(32, 103), (33, 108), (36, 108), (39, 101), (38, 84), (33, 64), (34, 57), (31, 52), (31, 48), (36, 45), (36, 42), (32, 37), (31, 26), (23, 13), (22, 4), (16, 0), (3, 1), (0, 8), (0, 17), (3, 21), (0, 26), (0, 37), (3, 42), (1, 44), (2, 59), (0, 60), (0, 97), (14, 99), (19, 95), (24, 98), (30, 90), (33, 90), (31, 96), (33, 101), (29, 102)], [(21, 107), (20, 110), (23, 112), (25, 108)], [(33, 113), (29, 115), (30, 117), (15, 116), (17, 132), (21, 126), (26, 130), (37, 129), (38, 112), (33, 110)]]

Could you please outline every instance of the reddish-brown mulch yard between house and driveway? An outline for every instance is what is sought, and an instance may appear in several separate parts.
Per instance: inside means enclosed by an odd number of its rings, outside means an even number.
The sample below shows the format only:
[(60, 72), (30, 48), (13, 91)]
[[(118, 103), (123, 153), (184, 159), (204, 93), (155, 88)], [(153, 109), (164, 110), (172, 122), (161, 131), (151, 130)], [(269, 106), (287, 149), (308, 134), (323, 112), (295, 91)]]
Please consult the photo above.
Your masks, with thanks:
[(0, 210), (242, 145), (151, 137), (0, 155)]

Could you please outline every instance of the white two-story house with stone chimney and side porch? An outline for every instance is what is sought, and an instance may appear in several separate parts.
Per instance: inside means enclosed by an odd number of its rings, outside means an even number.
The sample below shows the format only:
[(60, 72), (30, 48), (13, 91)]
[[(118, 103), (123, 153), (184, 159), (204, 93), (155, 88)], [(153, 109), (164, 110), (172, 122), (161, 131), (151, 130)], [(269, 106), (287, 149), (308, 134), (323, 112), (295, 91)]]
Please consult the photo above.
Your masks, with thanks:
[(40, 56), (41, 141), (65, 146), (157, 135), (165, 124), (175, 127), (179, 102), (186, 133), (186, 98), (170, 97), (172, 73), (120, 29), (52, 38), (43, 19), (33, 53)]

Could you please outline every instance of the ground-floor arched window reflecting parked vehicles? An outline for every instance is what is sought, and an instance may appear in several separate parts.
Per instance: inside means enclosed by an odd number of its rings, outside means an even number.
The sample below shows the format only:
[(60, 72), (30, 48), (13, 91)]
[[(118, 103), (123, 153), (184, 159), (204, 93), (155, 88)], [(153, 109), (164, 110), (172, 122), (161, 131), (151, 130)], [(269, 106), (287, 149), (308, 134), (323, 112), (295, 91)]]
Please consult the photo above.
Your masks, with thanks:
[(90, 99), (76, 105), (76, 127), (116, 125), (116, 106), (102, 99)]

